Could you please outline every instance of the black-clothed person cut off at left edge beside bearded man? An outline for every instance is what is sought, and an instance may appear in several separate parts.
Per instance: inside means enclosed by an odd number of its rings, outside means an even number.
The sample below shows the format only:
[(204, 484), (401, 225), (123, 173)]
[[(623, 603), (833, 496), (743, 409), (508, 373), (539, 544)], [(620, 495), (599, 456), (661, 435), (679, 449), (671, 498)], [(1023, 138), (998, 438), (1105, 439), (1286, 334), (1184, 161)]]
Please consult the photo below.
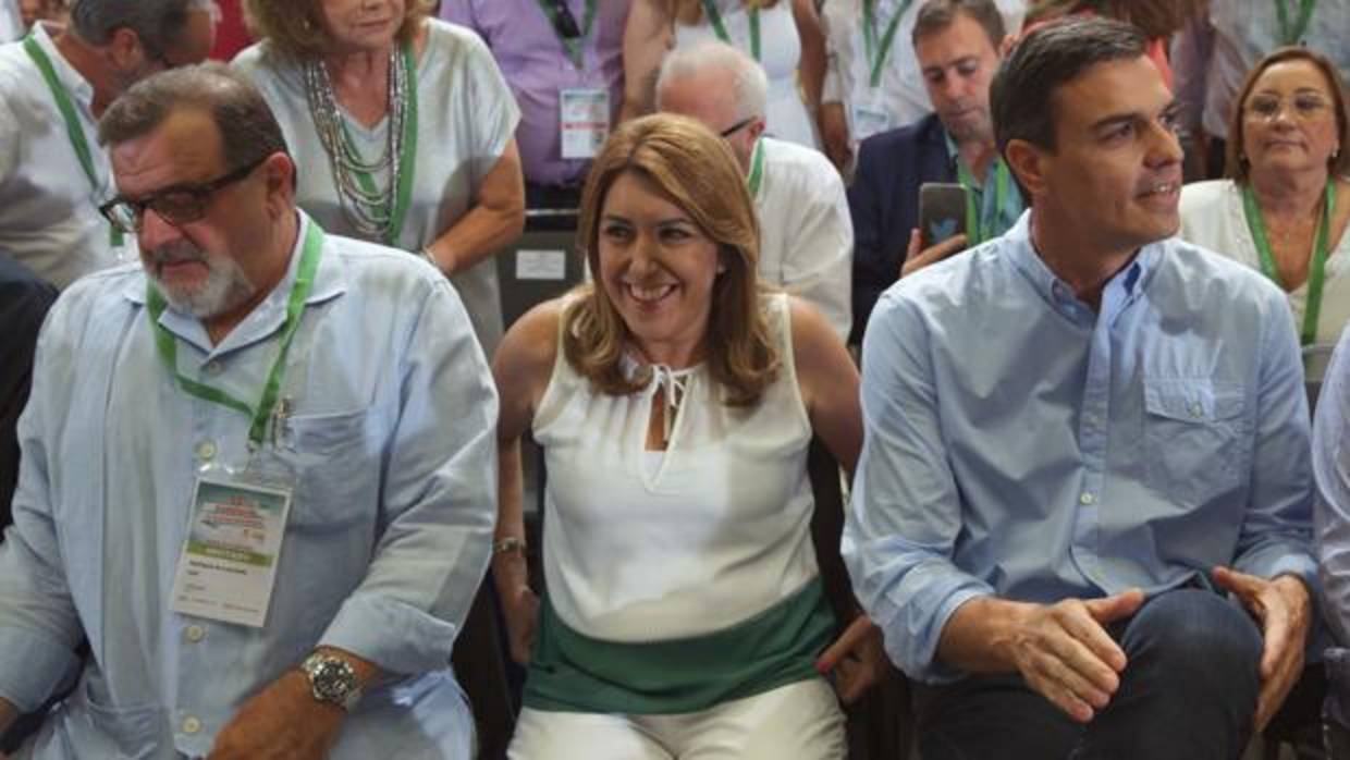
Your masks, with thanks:
[(38, 328), (55, 300), (55, 288), (0, 252), (0, 532), (9, 524), (9, 501), (19, 479), (15, 425), (28, 401)]

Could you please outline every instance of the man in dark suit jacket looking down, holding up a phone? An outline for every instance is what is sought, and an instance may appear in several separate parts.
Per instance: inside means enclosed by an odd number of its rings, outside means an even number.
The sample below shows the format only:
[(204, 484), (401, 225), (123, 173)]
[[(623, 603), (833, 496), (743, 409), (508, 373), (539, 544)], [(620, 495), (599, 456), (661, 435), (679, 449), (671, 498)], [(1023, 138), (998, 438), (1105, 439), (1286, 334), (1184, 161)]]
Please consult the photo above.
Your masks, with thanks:
[[(965, 244), (965, 239), (953, 239), (919, 252), (911, 232), (918, 227), (923, 182), (965, 185), (980, 212), (984, 238), (1002, 235), (1021, 215), (1022, 198), (999, 166), (990, 117), (990, 82), (1002, 40), (1003, 16), (991, 0), (927, 0), (919, 8), (913, 43), (934, 112), (872, 135), (859, 147), (848, 192), (853, 217), (850, 343), (863, 340), (872, 305), (899, 278), (907, 256), (922, 265)], [(961, 171), (965, 166), (971, 170)], [(983, 193), (990, 184), (984, 180), (995, 177), (996, 169), (1003, 171), (1007, 192)]]

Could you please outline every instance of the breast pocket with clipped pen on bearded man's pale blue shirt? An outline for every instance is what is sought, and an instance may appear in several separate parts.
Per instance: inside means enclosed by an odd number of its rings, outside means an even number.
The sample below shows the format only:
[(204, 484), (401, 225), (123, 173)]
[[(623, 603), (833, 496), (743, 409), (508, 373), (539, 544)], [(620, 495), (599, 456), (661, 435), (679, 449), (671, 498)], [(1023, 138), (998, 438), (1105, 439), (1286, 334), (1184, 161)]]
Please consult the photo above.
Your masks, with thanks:
[(286, 420), (274, 455), (296, 483), (290, 528), (325, 532), (374, 525), (394, 417), (394, 405), (386, 404)]

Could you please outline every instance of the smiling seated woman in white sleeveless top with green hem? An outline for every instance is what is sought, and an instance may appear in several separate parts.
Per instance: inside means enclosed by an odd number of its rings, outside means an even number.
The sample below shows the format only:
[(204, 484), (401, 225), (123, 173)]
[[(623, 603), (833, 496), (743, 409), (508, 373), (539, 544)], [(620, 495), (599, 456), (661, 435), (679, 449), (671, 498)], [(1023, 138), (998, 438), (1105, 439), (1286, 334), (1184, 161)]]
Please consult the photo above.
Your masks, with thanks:
[[(817, 435), (852, 470), (857, 370), (821, 315), (756, 281), (744, 175), (698, 121), (622, 124), (579, 240), (597, 283), (521, 317), (494, 362), (493, 576), (531, 664), (510, 756), (842, 757), (821, 674), (850, 701), (884, 656), (865, 617), (830, 647), (806, 452)], [(543, 599), (520, 551), (526, 431), (548, 471)]]

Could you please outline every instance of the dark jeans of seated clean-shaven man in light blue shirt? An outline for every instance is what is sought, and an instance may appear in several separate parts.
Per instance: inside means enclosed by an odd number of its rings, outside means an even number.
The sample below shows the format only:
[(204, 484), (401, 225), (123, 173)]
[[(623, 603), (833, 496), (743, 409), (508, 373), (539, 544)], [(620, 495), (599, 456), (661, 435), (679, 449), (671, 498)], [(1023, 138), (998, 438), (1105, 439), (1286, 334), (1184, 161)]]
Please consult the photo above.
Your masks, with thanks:
[(1149, 599), (1111, 628), (1129, 664), (1111, 703), (1076, 724), (1019, 676), (921, 686), (923, 760), (1235, 760), (1251, 736), (1261, 633), (1197, 589)]

